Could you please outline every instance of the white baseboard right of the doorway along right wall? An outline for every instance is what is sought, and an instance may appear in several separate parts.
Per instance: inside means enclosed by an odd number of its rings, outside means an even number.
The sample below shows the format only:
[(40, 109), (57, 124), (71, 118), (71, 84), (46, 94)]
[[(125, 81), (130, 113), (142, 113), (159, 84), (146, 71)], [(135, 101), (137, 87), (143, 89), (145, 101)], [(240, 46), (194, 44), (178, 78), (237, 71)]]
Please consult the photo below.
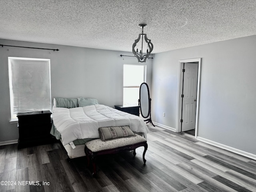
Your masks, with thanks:
[(205, 139), (205, 138), (202, 138), (202, 137), (197, 137), (196, 139), (199, 140), (199, 141), (205, 142), (207, 144), (211, 144), (213, 146), (216, 146), (216, 147), (219, 147), (219, 148), (234, 152), (236, 154), (240, 154), (242, 156), (246, 156), (248, 158), (256, 160), (256, 155), (255, 154), (248, 153), (248, 152), (245, 152), (245, 151), (242, 151), (242, 150), (239, 150), (239, 149), (236, 149), (236, 148), (224, 145), (224, 144), (220, 144), (220, 143), (217, 143), (215, 141), (208, 140), (208, 139)]

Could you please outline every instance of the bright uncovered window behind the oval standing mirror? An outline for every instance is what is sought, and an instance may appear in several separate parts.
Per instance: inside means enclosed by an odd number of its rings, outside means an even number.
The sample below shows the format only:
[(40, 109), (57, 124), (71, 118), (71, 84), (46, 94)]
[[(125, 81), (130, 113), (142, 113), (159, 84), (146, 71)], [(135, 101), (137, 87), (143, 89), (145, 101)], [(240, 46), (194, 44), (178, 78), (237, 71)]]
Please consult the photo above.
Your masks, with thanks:
[(123, 104), (138, 105), (140, 85), (146, 82), (146, 65), (124, 64)]

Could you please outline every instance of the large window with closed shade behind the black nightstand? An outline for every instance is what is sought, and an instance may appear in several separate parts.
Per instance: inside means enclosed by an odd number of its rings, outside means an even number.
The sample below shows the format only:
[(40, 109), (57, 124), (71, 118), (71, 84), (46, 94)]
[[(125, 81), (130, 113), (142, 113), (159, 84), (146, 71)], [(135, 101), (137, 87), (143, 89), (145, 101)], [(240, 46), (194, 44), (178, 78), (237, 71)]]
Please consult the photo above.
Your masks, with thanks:
[(11, 120), (18, 112), (51, 110), (50, 59), (8, 57)]

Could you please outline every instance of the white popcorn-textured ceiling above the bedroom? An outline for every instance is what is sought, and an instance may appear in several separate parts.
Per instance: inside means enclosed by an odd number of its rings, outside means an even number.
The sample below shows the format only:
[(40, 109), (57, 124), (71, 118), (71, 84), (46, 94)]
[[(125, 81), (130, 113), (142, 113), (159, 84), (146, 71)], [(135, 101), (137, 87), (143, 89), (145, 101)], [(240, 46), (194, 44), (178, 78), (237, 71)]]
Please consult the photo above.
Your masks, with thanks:
[[(0, 38), (152, 53), (256, 34), (256, 0), (0, 0)], [(1, 42), (0, 42), (1, 44)]]

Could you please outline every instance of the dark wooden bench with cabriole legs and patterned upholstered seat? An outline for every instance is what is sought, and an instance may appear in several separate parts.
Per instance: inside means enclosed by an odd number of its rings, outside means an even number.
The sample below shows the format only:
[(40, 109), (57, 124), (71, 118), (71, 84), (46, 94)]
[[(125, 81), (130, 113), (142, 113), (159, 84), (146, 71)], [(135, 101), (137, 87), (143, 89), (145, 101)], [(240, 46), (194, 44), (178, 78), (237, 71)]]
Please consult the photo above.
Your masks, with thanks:
[(98, 156), (106, 154), (116, 154), (122, 151), (133, 150), (133, 155), (136, 155), (135, 149), (144, 146), (143, 162), (146, 163), (145, 154), (148, 149), (147, 140), (142, 136), (135, 135), (133, 137), (122, 137), (112, 140), (102, 141), (101, 139), (91, 140), (85, 143), (84, 152), (87, 156), (87, 166), (92, 164), (92, 176), (96, 175), (95, 160)]

